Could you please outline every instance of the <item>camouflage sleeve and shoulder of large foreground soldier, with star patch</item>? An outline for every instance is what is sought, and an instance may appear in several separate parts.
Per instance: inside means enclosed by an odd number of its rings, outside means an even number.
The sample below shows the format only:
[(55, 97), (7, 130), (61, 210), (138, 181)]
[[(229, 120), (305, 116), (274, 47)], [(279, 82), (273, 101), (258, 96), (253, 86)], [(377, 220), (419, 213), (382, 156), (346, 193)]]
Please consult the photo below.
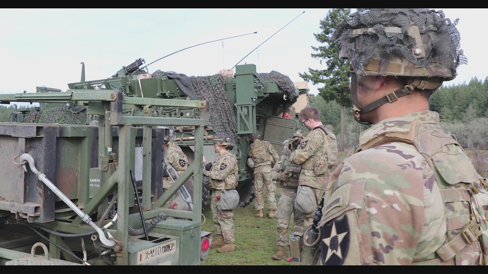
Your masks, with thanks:
[[(414, 258), (434, 259), (446, 235), (443, 199), (434, 181), (424, 157), (406, 143), (345, 159), (331, 175), (319, 223), (324, 264), (403, 265)], [(333, 244), (333, 238), (339, 242)], [(345, 253), (337, 260), (340, 251)]]

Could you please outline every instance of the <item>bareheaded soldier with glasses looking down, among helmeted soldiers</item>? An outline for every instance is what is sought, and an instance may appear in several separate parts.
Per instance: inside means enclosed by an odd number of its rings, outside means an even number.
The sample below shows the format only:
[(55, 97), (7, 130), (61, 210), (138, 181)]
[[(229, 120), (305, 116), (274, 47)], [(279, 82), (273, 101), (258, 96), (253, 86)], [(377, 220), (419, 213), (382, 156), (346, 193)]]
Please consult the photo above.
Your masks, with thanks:
[[(324, 194), (330, 172), (336, 165), (337, 140), (334, 133), (322, 125), (316, 108), (303, 108), (299, 118), (310, 132), (301, 140), (297, 150), (292, 152), (290, 162), (301, 165), (295, 205), (305, 214), (306, 228), (312, 225), (316, 205)], [(300, 191), (313, 192), (310, 195), (315, 206), (309, 207), (308, 212), (303, 212), (305, 206), (300, 206), (300, 202), (305, 202), (300, 201)]]

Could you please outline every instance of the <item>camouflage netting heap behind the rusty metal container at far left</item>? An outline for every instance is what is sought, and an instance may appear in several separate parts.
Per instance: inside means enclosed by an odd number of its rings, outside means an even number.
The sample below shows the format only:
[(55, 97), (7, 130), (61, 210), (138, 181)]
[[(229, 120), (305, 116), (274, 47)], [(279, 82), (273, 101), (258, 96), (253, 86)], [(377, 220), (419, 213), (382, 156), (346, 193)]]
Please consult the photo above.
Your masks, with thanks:
[(86, 109), (82, 106), (62, 106), (32, 112), (26, 123), (85, 125)]

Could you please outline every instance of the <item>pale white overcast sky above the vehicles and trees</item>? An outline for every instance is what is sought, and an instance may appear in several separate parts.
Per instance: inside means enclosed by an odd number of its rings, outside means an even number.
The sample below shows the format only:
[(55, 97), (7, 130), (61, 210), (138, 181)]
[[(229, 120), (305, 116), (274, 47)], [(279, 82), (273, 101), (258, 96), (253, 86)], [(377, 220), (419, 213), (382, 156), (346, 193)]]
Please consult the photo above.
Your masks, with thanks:
[[(439, 9), (436, 9), (439, 10)], [(488, 72), (488, 9), (442, 9), (459, 18), (461, 49), (468, 64), (445, 85), (485, 80)], [(311, 46), (328, 9), (0, 9), (0, 94), (35, 92), (36, 86), (59, 88), (81, 78), (104, 79), (142, 58), (147, 68), (187, 76), (207, 76), (220, 69), (254, 63), (258, 73), (272, 70), (302, 81), (298, 73), (325, 69)], [(304, 12), (304, 13), (303, 13)], [(257, 32), (257, 34), (252, 34)], [(232, 39), (229, 37), (240, 36)], [(263, 43), (264, 42), (264, 43)], [(257, 47), (257, 49), (256, 49)], [(246, 57), (247, 56), (247, 57)], [(245, 59), (243, 59), (246, 57)], [(241, 61), (241, 59), (243, 59)], [(235, 70), (234, 70), (235, 71)], [(309, 83), (313, 94), (317, 87)]]

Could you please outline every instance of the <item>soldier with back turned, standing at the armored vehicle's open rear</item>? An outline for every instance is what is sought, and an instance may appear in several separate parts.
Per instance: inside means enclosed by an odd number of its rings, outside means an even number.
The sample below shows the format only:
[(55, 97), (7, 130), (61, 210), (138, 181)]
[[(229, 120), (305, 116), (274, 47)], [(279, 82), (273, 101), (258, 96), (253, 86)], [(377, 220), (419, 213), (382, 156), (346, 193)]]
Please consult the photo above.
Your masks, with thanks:
[(251, 134), (251, 144), (247, 153), (248, 157), (254, 162), (254, 192), (256, 195), (255, 208), (257, 213), (254, 215), (263, 218), (264, 208), (264, 186), (266, 186), (266, 196), (268, 197), (269, 218), (275, 217), (276, 211), (276, 183), (271, 179), (271, 168), (278, 160), (278, 152), (273, 145), (265, 140), (259, 140), (259, 132)]

